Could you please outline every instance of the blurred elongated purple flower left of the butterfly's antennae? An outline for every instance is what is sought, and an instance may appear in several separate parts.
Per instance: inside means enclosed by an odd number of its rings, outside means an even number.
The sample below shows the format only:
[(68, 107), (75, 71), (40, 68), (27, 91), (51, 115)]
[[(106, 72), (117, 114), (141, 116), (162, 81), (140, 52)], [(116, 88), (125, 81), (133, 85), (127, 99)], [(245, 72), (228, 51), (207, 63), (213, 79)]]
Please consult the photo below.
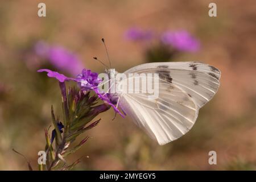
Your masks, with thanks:
[(48, 59), (49, 63), (57, 69), (73, 76), (79, 74), (83, 67), (81, 60), (74, 53), (60, 46), (49, 46), (49, 44), (40, 41), (35, 44), (35, 52), (37, 55)]

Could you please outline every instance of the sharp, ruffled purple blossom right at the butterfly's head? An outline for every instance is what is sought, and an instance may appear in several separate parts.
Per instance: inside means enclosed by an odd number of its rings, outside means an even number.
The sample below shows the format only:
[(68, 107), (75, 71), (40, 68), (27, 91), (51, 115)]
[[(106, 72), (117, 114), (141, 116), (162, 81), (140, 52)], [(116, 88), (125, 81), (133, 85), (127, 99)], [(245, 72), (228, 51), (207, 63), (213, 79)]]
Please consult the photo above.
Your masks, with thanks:
[(101, 79), (98, 77), (98, 73), (91, 72), (89, 69), (82, 69), (82, 73), (76, 77), (76, 81), (82, 90), (94, 90), (97, 89)]

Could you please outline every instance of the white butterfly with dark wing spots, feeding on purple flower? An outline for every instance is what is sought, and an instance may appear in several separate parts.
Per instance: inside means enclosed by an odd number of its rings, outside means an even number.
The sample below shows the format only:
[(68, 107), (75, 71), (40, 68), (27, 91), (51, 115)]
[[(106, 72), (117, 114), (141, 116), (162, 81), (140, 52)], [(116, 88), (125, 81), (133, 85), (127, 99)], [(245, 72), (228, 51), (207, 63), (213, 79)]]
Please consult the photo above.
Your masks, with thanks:
[[(118, 104), (160, 145), (180, 138), (192, 128), (199, 109), (217, 92), (221, 75), (217, 68), (199, 62), (147, 63), (124, 73), (158, 73), (156, 100), (148, 100), (146, 93), (119, 93)], [(120, 80), (116, 82), (121, 84)]]

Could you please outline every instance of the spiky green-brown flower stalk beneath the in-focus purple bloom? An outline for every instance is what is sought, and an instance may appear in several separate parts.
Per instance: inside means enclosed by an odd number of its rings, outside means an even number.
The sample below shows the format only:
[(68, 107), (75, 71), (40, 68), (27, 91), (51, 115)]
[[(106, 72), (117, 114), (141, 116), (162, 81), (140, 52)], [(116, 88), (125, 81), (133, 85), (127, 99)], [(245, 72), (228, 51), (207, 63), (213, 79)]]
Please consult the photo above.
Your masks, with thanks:
[[(48, 130), (45, 130), (47, 162), (46, 165), (39, 166), (39, 170), (67, 170), (78, 164), (80, 160), (68, 166), (65, 158), (79, 150), (89, 137), (86, 136), (75, 147), (72, 147), (72, 143), (79, 135), (98, 125), (100, 119), (90, 123), (98, 114), (110, 109), (108, 104), (99, 105), (98, 97), (90, 96), (90, 91), (69, 88), (67, 92), (64, 82), (60, 82), (60, 89), (63, 98), (63, 125), (59, 118), (55, 117), (52, 106), (51, 116), (54, 129), (51, 137)], [(54, 142), (55, 145), (53, 145)]]

